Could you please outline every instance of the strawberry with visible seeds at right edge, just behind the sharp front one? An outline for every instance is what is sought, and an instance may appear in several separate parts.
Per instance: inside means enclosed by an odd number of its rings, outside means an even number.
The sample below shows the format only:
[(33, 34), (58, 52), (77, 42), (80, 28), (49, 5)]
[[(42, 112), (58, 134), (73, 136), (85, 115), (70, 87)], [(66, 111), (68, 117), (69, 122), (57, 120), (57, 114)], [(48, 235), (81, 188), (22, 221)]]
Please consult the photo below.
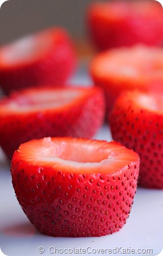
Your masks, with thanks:
[(162, 95), (123, 93), (110, 114), (113, 139), (140, 156), (140, 186), (163, 189), (162, 126)]

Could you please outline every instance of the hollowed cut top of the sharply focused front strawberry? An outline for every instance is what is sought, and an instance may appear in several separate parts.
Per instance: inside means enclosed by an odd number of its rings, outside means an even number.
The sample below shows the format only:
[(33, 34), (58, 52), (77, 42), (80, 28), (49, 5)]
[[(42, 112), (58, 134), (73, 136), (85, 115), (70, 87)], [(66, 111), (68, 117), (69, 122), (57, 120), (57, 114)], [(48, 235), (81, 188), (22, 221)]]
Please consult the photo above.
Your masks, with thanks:
[(20, 145), (18, 154), (29, 164), (48, 166), (71, 173), (115, 173), (138, 154), (119, 143), (72, 138), (44, 138)]

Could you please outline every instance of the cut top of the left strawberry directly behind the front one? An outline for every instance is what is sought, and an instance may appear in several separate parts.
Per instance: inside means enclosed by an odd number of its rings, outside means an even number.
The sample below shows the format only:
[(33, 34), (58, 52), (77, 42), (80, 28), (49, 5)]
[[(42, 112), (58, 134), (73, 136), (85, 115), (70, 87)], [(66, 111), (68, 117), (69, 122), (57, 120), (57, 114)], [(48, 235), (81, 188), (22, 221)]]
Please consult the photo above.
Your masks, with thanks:
[(89, 97), (93, 92), (90, 88), (35, 88), (22, 90), (19, 93), (13, 93), (10, 98), (4, 98), (0, 102), (1, 115), (6, 113), (24, 113), (38, 110), (51, 110), (56, 108), (72, 107), (77, 102)]

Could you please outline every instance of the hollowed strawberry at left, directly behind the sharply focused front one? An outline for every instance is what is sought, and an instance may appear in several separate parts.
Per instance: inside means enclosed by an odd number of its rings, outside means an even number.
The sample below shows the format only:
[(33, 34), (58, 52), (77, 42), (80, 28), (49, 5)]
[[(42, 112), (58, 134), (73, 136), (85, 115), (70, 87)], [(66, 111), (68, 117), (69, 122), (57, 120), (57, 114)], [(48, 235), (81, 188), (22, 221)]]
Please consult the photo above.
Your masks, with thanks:
[(91, 138), (103, 123), (100, 88), (30, 88), (0, 102), (0, 145), (9, 158), (20, 143), (44, 136)]

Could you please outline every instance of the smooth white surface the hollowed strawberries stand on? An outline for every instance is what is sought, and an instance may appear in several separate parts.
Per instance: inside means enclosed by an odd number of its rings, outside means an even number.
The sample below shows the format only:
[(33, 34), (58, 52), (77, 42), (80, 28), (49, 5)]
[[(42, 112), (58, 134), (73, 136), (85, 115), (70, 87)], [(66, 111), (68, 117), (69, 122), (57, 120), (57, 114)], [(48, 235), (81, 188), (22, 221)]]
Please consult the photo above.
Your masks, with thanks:
[[(77, 73), (72, 83), (87, 84), (90, 82), (84, 70)], [(95, 136), (100, 140), (112, 140), (107, 125)], [(102, 254), (92, 249), (152, 249), (158, 255), (163, 247), (163, 191), (138, 187), (130, 218), (119, 232), (105, 237), (55, 238), (40, 234), (20, 208), (11, 183), (10, 166), (0, 151), (0, 247), (8, 256), (35, 255), (134, 255)], [(45, 252), (38, 253), (38, 247)], [(87, 249), (90, 254), (50, 254), (49, 248)], [(51, 249), (51, 252), (54, 250)], [(115, 251), (114, 251), (115, 252)], [(144, 251), (143, 251), (144, 252)], [(137, 254), (149, 255), (149, 254)]]

